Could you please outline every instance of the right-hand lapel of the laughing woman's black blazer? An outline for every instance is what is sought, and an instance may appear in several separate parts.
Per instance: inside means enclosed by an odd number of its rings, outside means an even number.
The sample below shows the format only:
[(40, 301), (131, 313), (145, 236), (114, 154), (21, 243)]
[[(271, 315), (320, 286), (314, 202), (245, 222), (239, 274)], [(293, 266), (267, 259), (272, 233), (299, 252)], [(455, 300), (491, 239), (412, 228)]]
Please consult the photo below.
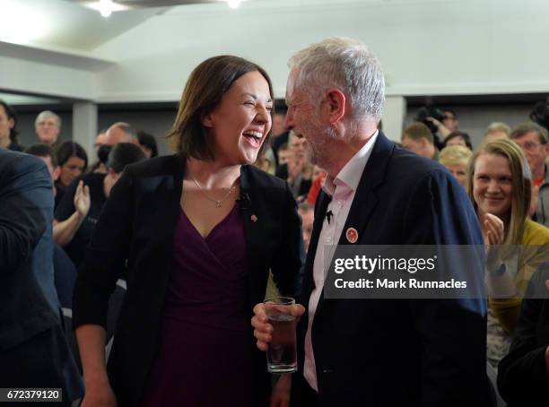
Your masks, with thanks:
[(240, 217), (244, 226), (246, 240), (246, 255), (248, 258), (248, 301), (252, 306), (256, 305), (257, 299), (254, 295), (257, 287), (260, 286), (260, 276), (257, 273), (258, 246), (261, 244), (261, 228), (257, 227), (257, 221), (252, 217), (257, 216), (257, 188), (252, 186), (253, 179), (250, 177), (248, 166), (240, 168), (240, 198), (238, 200)]

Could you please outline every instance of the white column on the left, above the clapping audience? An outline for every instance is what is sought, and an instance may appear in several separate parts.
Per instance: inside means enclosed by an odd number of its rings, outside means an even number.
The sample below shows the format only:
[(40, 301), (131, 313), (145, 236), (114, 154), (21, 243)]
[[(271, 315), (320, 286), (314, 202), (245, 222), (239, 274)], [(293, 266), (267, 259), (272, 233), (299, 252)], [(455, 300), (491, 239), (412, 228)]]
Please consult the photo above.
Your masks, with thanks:
[(93, 142), (97, 136), (97, 105), (92, 102), (73, 105), (73, 141), (82, 144), (89, 163), (97, 159)]

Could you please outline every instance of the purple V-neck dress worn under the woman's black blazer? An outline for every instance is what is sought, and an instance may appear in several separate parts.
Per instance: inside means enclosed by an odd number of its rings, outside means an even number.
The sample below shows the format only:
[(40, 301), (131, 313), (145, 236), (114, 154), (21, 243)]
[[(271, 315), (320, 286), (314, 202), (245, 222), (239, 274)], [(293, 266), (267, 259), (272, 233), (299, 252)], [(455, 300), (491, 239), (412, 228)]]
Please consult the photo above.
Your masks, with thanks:
[(237, 205), (206, 238), (179, 212), (160, 346), (142, 405), (253, 405), (253, 333)]

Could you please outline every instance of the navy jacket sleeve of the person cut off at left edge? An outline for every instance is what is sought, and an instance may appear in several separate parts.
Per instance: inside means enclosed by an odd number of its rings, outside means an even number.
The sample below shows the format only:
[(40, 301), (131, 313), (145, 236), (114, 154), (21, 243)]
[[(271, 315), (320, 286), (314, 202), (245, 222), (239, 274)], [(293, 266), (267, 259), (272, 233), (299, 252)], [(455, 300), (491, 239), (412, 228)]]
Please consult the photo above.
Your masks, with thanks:
[(51, 202), (53, 208), (44, 162), (25, 155), (12, 160), (0, 174), (0, 276), (14, 273), (32, 255), (48, 227), (43, 207)]

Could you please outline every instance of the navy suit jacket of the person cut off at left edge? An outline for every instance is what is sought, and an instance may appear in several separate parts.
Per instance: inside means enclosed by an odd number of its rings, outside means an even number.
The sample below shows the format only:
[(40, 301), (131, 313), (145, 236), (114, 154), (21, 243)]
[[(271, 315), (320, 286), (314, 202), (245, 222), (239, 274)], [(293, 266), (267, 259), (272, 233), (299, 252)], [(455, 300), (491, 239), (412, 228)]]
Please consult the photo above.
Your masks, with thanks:
[[(60, 325), (44, 162), (0, 149), (0, 352)], [(0, 367), (1, 368), (1, 367)]]

